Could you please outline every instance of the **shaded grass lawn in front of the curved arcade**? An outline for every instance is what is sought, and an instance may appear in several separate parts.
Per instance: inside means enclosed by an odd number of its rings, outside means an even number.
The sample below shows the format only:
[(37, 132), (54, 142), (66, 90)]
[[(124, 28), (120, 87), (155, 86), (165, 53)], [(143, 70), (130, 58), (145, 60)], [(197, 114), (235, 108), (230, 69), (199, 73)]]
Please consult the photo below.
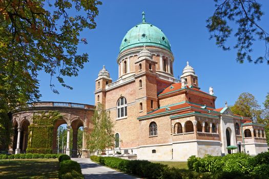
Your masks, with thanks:
[(58, 178), (58, 159), (0, 160), (0, 178)]

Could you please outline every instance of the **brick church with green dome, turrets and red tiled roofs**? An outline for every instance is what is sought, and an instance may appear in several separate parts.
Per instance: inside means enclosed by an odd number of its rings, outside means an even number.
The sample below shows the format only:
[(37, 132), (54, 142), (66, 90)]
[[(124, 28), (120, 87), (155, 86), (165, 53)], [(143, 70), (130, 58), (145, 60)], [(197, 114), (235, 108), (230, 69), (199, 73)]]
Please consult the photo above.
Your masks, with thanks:
[(231, 153), (227, 146), (251, 155), (267, 151), (264, 125), (234, 115), (227, 104), (216, 108), (213, 88), (200, 90), (194, 62), (182, 67), (177, 80), (174, 60), (167, 36), (143, 13), (120, 44), (118, 79), (112, 81), (104, 65), (95, 80), (95, 105), (109, 110), (115, 123), (117, 142), (107, 154), (187, 161)]

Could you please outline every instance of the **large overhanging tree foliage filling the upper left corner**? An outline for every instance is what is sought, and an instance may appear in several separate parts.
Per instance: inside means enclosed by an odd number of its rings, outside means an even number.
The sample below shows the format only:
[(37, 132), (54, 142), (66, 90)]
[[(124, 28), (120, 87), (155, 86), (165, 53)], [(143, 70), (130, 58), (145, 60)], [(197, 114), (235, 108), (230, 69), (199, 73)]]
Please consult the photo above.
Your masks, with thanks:
[(63, 77), (77, 76), (88, 61), (88, 54), (77, 54), (78, 43), (87, 43), (79, 33), (96, 27), (98, 5), (97, 0), (1, 1), (0, 103), (12, 110), (38, 99), (40, 71), (72, 88)]

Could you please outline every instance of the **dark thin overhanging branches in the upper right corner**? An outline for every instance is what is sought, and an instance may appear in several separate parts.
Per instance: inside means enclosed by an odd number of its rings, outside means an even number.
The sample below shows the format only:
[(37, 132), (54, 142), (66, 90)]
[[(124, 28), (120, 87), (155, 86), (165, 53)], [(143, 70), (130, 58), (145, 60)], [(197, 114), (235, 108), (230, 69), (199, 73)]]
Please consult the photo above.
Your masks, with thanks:
[(210, 38), (215, 38), (218, 47), (223, 50), (230, 50), (226, 41), (232, 34), (233, 23), (238, 25), (237, 32), (234, 34), (237, 43), (234, 48), (237, 49), (236, 60), (243, 63), (244, 60), (253, 61), (251, 52), (253, 51), (253, 41), (263, 40), (265, 44), (264, 55), (257, 57), (254, 63), (262, 63), (264, 60), (269, 64), (269, 34), (258, 25), (263, 12), (261, 4), (255, 0), (214, 0), (216, 10), (214, 14), (206, 20), (206, 27), (211, 34)]

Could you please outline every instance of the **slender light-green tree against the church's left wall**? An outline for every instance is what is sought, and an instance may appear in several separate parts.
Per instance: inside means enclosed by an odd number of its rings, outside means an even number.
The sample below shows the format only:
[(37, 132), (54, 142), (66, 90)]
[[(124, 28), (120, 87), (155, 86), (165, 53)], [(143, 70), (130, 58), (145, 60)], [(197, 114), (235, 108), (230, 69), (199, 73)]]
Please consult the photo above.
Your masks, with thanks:
[(87, 143), (88, 148), (99, 153), (102, 150), (114, 147), (114, 124), (110, 119), (110, 111), (106, 111), (102, 104), (98, 104), (92, 122), (93, 130)]

